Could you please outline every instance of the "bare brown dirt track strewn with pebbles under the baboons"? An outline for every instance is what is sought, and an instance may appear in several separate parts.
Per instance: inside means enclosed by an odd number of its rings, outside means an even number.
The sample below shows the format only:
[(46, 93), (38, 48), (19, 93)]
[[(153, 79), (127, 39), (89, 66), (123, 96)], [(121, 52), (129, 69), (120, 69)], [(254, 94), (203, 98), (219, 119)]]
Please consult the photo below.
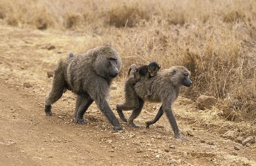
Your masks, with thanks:
[[(62, 34), (0, 26), (1, 166), (255, 165), (255, 146), (242, 146), (222, 138), (218, 132), (210, 132), (207, 126), (194, 125), (195, 120), (205, 114), (184, 98), (175, 101), (174, 113), (186, 141), (175, 139), (165, 117), (145, 129), (145, 121), (154, 117), (159, 106), (154, 103), (145, 103), (136, 119), (141, 129), (120, 121), (125, 132), (113, 132), (94, 103), (85, 114), (89, 123), (75, 124), (72, 117), (76, 96), (70, 91), (53, 104), (53, 116), (46, 116), (44, 98), (52, 80), (47, 77), (47, 71), (58, 59), (67, 58), (72, 51), (68, 45), (80, 37), (82, 34), (72, 32)], [(49, 44), (56, 48), (43, 49), (42, 45)], [(23, 86), (25, 82), (32, 87)], [(122, 88), (118, 81), (113, 84)], [(111, 94), (114, 91), (111, 90)], [(117, 116), (116, 102), (113, 97), (109, 99)], [(187, 135), (184, 132), (187, 128), (195, 135)]]

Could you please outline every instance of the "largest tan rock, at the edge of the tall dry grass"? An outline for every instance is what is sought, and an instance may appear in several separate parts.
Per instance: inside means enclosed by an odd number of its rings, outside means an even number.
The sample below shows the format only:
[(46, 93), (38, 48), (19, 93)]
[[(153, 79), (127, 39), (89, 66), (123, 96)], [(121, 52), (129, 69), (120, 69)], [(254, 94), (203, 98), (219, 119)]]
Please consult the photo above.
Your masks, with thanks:
[(215, 105), (218, 101), (218, 99), (215, 97), (204, 95), (199, 96), (196, 100), (196, 106), (200, 110), (211, 109), (212, 106)]

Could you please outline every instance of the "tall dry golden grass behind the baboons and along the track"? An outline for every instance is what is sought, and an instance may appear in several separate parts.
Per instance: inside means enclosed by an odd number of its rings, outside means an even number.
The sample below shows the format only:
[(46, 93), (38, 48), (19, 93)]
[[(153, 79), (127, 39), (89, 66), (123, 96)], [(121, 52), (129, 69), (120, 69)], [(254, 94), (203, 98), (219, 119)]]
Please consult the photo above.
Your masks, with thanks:
[(220, 116), (249, 123), (256, 123), (255, 17), (255, 0), (0, 2), (6, 24), (90, 36), (75, 53), (111, 45), (122, 56), (122, 73), (153, 60), (163, 68), (184, 65), (194, 82), (184, 96), (214, 96)]

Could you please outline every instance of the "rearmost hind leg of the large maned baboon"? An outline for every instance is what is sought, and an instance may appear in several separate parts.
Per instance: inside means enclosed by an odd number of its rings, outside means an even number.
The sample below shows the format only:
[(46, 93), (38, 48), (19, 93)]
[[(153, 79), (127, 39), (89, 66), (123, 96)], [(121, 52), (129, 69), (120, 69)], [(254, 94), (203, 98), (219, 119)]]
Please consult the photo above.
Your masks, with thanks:
[(55, 72), (52, 79), (51, 90), (47, 93), (44, 104), (44, 112), (47, 116), (52, 116), (51, 104), (61, 98), (64, 90), (64, 76), (61, 73)]

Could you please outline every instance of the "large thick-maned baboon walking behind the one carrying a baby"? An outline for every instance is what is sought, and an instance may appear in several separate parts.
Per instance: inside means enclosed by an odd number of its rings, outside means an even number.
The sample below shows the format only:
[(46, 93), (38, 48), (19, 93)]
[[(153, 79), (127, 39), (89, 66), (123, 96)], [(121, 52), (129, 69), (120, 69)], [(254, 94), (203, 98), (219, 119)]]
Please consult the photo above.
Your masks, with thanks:
[(45, 99), (46, 115), (52, 115), (51, 104), (61, 98), (63, 89), (68, 85), (78, 95), (74, 112), (76, 123), (87, 123), (84, 113), (95, 101), (113, 129), (124, 131), (106, 101), (109, 86), (121, 66), (119, 54), (108, 45), (90, 49), (66, 61), (60, 60), (54, 69), (52, 88)]

